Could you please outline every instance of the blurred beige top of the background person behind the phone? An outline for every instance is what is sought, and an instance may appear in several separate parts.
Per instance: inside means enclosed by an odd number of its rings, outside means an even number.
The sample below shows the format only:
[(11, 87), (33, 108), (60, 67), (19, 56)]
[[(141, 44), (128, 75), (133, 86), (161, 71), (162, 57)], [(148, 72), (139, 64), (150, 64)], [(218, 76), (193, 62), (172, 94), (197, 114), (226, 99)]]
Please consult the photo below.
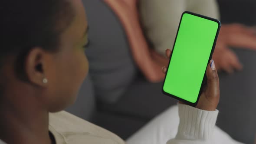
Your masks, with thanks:
[(188, 10), (218, 19), (217, 0), (139, 0), (141, 24), (154, 49), (165, 56), (172, 49), (181, 14)]

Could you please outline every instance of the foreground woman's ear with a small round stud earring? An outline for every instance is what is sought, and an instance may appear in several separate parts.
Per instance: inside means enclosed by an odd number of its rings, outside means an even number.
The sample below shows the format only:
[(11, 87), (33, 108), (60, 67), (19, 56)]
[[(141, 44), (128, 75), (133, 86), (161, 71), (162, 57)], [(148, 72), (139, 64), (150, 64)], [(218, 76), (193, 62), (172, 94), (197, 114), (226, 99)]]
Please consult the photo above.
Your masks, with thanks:
[(48, 79), (46, 78), (46, 59), (47, 54), (42, 48), (36, 47), (31, 49), (26, 55), (24, 62), (24, 71), (27, 80), (38, 86), (46, 86)]

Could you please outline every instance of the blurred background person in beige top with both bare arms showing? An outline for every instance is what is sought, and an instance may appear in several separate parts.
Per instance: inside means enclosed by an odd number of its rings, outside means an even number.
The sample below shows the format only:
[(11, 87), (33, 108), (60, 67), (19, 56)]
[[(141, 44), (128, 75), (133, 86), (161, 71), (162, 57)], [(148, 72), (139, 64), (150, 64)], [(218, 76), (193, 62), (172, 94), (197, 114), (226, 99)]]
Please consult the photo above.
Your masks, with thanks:
[[(216, 19), (220, 13), (216, 0), (105, 0), (123, 23), (136, 64), (150, 82), (160, 82), (164, 75), (155, 69), (166, 65), (164, 50), (172, 48), (181, 14), (189, 10)], [(141, 22), (141, 25), (140, 25)], [(143, 35), (145, 33), (145, 36)], [(146, 40), (146, 38), (148, 40)], [(145, 43), (149, 41), (149, 43)], [(229, 47), (256, 50), (256, 29), (242, 24), (223, 24), (213, 58), (218, 70), (241, 70), (236, 54)]]

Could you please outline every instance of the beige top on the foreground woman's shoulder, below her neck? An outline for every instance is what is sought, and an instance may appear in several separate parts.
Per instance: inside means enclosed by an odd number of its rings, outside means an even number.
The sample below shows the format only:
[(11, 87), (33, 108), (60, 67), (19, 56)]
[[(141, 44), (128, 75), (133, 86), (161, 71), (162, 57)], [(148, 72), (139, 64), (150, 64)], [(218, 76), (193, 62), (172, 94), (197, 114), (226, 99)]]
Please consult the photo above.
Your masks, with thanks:
[(112, 132), (66, 111), (49, 115), (49, 131), (56, 144), (125, 144)]

